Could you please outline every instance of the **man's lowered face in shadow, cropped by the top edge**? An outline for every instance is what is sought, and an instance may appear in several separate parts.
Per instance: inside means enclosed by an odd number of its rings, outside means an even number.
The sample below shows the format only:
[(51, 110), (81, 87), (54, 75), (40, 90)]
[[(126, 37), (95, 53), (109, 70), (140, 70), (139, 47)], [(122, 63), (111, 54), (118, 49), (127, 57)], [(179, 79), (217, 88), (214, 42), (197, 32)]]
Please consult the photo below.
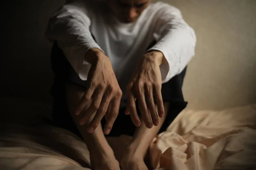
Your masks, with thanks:
[(140, 17), (151, 0), (108, 0), (113, 14), (122, 23), (132, 23)]

